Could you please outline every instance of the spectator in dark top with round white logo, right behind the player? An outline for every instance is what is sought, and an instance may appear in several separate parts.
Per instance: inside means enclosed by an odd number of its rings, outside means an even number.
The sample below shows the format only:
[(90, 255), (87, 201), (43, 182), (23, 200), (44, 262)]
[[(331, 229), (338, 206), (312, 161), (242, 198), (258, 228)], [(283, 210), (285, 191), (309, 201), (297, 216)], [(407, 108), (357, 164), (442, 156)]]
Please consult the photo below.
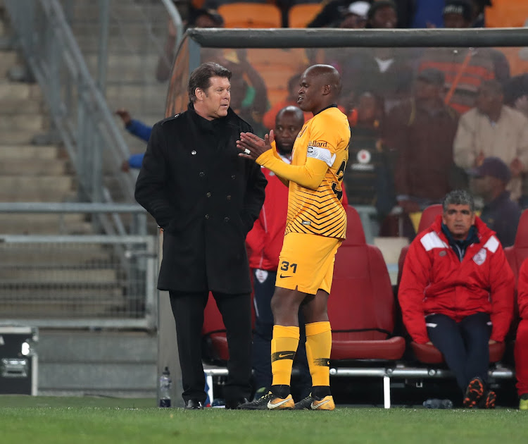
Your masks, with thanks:
[(382, 99), (375, 94), (361, 94), (357, 122), (351, 122), (353, 137), (343, 179), (350, 204), (375, 206), (379, 218), (396, 204), (394, 178), (382, 142), (383, 109)]

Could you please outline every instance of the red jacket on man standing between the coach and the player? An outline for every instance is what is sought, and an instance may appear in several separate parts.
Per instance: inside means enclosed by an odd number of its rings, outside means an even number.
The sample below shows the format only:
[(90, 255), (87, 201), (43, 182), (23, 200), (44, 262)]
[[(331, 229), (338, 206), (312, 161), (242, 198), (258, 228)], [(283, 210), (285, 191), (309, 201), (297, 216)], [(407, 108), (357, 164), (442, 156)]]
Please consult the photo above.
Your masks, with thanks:
[[(289, 159), (283, 157), (289, 163)], [(265, 188), (265, 199), (260, 215), (246, 237), (249, 267), (275, 271), (279, 266), (279, 254), (286, 230), (288, 214), (288, 187), (268, 168), (262, 168), (268, 180)], [(343, 206), (348, 205), (348, 199), (343, 187)]]

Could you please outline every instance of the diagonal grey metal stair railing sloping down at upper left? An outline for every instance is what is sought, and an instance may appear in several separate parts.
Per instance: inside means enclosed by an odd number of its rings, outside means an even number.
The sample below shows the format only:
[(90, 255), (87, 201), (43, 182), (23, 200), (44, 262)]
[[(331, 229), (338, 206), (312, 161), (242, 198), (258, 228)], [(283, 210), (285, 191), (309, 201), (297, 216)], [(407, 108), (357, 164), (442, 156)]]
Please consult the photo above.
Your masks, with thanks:
[(118, 177), (120, 199), (133, 200), (130, 151), (57, 0), (5, 0), (25, 60), (72, 160), (80, 200), (105, 202), (103, 172)]

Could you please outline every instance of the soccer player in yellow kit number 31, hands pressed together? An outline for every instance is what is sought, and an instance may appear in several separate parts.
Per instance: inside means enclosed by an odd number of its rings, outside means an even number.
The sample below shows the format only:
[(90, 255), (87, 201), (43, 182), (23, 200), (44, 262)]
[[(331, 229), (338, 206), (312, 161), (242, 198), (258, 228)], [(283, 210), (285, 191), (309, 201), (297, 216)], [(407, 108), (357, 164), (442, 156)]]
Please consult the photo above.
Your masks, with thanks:
[[(237, 141), (240, 156), (270, 169), (289, 186), (287, 225), (271, 301), (275, 321), (272, 387), (259, 400), (246, 402), (240, 409), (335, 408), (329, 382), (332, 332), (327, 301), (335, 254), (346, 233), (341, 182), (348, 160), (350, 126), (337, 109), (341, 78), (335, 68), (310, 66), (301, 76), (300, 86), (298, 106), (313, 113), (313, 118), (297, 136), (291, 165), (277, 155), (272, 131), (264, 140), (243, 132)], [(297, 314), (301, 304), (312, 392), (295, 404), (289, 386), (299, 340)]]

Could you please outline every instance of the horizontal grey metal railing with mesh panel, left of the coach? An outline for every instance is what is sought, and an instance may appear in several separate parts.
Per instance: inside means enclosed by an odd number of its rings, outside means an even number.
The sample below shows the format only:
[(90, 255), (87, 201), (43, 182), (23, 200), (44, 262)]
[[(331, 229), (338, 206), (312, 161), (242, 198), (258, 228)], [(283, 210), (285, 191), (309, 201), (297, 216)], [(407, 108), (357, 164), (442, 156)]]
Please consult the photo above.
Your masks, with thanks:
[(49, 328), (157, 324), (158, 241), (132, 204), (0, 203), (0, 214), (132, 214), (137, 235), (1, 235), (1, 323)]

